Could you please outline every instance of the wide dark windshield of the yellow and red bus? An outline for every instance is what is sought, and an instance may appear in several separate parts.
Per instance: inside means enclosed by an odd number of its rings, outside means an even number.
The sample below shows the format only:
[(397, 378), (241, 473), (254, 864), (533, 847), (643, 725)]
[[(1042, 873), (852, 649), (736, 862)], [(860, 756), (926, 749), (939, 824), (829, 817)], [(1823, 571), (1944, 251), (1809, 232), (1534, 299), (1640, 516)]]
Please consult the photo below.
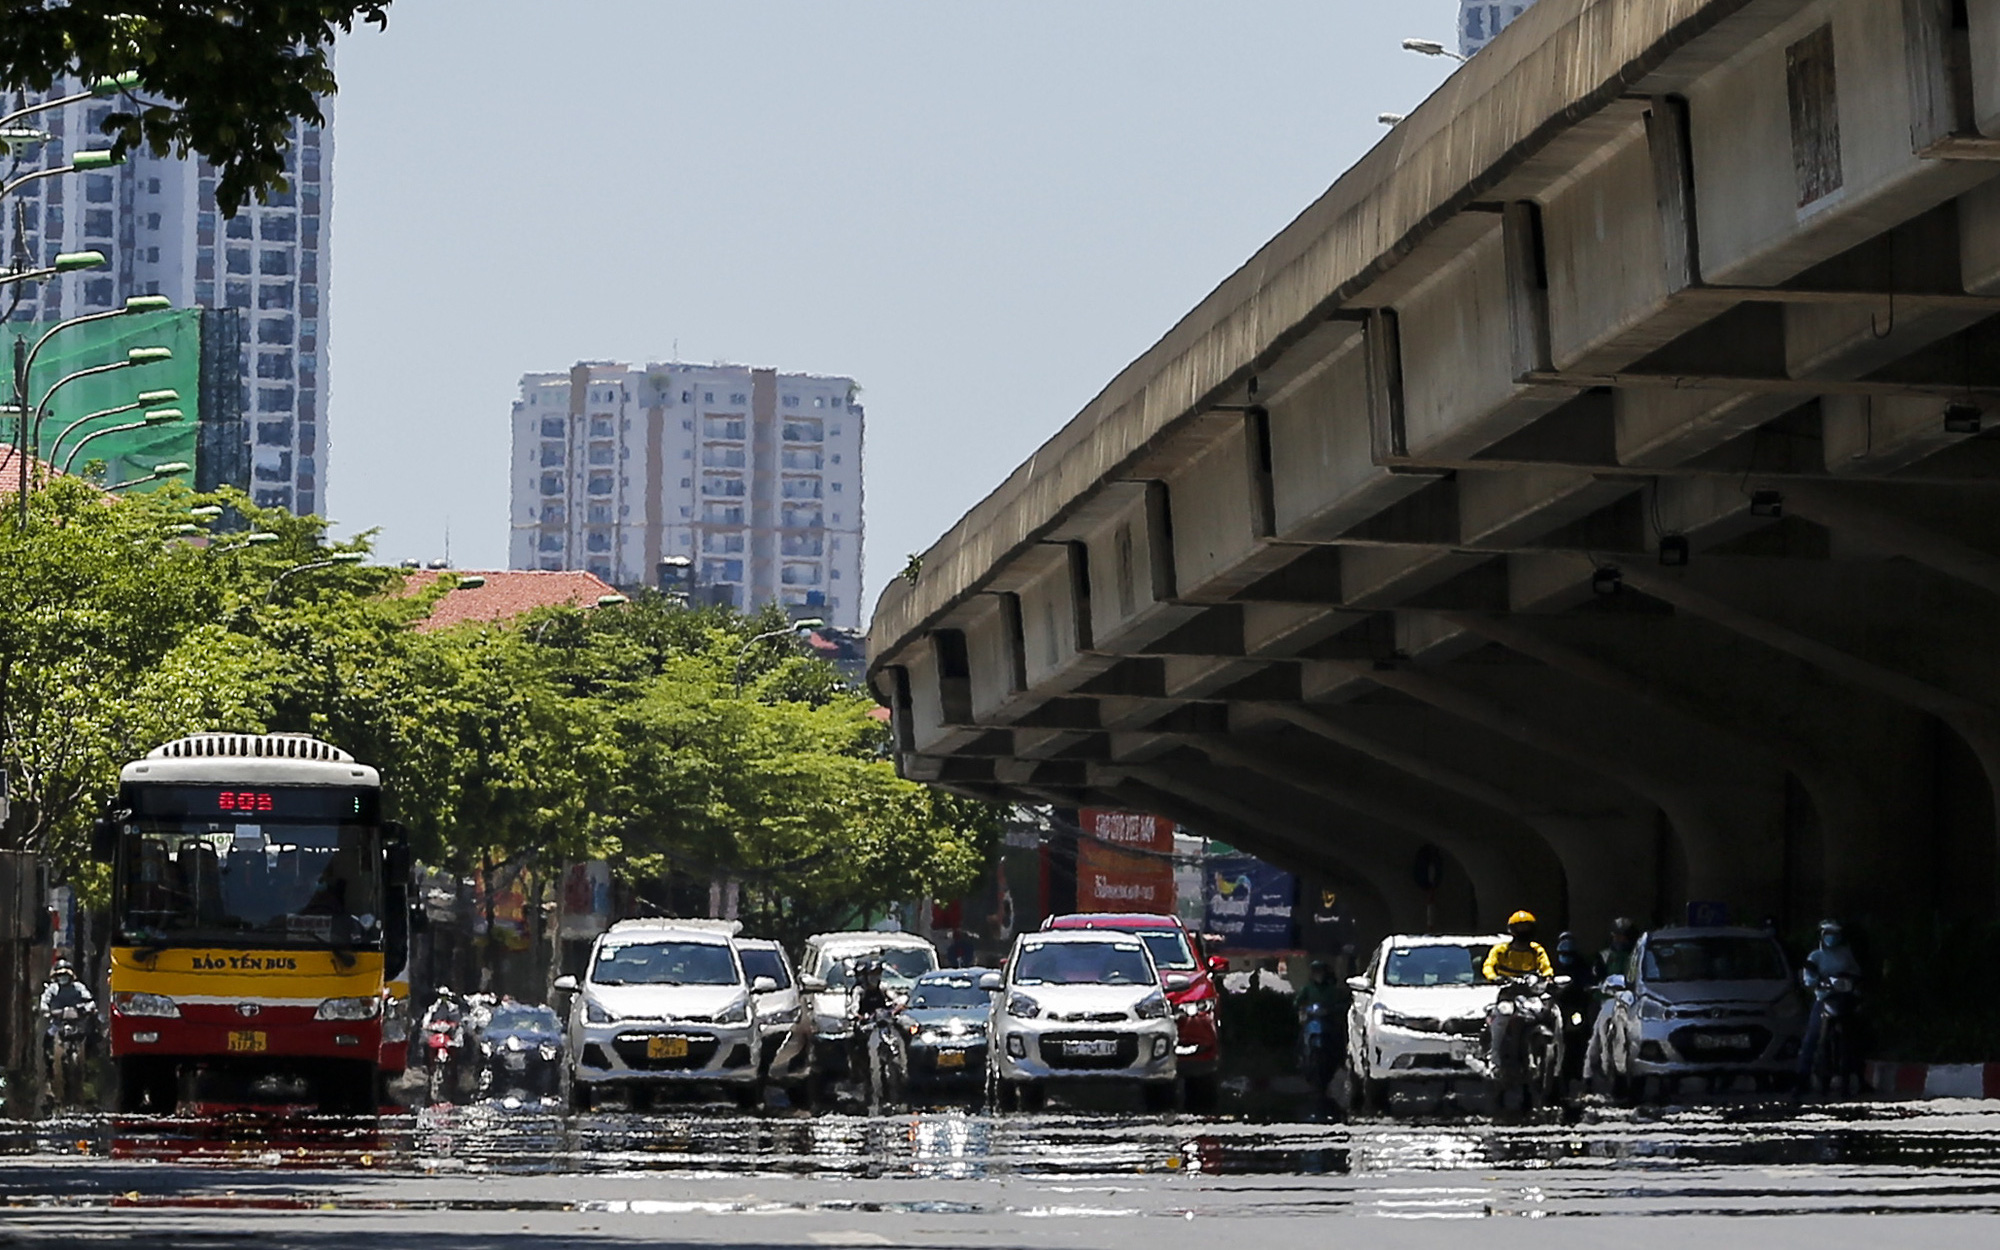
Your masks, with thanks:
[(138, 946), (372, 946), (382, 846), (366, 824), (140, 820), (126, 826), (112, 906), (120, 940)]

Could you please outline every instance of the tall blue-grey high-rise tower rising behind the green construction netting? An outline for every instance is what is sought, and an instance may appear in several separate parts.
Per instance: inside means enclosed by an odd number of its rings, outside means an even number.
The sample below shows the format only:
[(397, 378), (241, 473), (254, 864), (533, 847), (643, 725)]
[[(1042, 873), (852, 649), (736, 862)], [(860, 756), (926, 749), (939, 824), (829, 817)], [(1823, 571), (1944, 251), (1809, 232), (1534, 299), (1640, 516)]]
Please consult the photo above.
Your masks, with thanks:
[[(76, 94), (58, 82), (52, 96)], [(42, 96), (48, 98), (48, 96)], [(30, 104), (36, 96), (26, 98)], [(116, 100), (84, 100), (36, 114), (30, 124), (52, 138), (34, 164), (62, 164), (72, 152), (104, 148), (98, 124)], [(332, 122), (332, 100), (320, 108)], [(102, 174), (66, 174), (22, 186), (28, 256), (104, 252), (108, 266), (22, 284), (0, 298), (12, 320), (58, 322), (118, 308), (126, 296), (164, 294), (182, 308), (236, 310), (208, 326), (238, 334), (242, 384), (232, 396), (244, 414), (248, 490), (258, 504), (320, 512), (326, 502), (326, 244), (332, 210), (334, 136), (322, 126), (292, 126), (286, 154), (290, 188), (270, 202), (252, 200), (234, 218), (216, 212), (216, 172), (206, 160), (136, 150)], [(0, 230), (14, 242), (14, 218)], [(4, 292), (6, 288), (0, 288)], [(226, 350), (226, 344), (224, 344)], [(224, 374), (226, 376), (226, 374)], [(188, 396), (192, 400), (192, 396)]]

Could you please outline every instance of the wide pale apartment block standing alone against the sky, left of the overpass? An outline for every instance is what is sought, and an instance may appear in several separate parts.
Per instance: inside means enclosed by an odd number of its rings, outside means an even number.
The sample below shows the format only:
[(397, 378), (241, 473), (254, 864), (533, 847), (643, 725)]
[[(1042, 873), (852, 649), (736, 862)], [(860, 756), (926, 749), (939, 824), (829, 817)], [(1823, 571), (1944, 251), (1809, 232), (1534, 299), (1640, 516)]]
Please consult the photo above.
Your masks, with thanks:
[(852, 378), (582, 362), (514, 402), (512, 568), (862, 620)]

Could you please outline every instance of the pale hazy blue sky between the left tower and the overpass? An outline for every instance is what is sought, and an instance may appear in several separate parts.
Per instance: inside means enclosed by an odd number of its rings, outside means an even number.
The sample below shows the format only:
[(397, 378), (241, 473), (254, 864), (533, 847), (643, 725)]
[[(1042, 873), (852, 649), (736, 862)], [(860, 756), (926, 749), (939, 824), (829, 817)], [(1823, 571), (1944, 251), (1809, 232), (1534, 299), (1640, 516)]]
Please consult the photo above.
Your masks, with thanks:
[(1456, 0), (396, 0), (340, 46), (328, 512), (506, 564), (576, 360), (850, 374), (866, 604), (1412, 110)]

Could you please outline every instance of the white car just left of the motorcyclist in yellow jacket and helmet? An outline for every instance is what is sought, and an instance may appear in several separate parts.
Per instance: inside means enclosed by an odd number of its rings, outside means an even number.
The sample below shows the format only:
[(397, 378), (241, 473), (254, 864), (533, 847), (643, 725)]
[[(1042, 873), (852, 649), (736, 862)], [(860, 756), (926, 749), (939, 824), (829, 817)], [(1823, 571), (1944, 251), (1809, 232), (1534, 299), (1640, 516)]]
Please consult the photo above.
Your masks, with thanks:
[(1398, 934), (1348, 978), (1348, 1074), (1356, 1110), (1386, 1106), (1404, 1082), (1484, 1080), (1486, 1014), (1500, 986), (1486, 956), (1506, 934)]

